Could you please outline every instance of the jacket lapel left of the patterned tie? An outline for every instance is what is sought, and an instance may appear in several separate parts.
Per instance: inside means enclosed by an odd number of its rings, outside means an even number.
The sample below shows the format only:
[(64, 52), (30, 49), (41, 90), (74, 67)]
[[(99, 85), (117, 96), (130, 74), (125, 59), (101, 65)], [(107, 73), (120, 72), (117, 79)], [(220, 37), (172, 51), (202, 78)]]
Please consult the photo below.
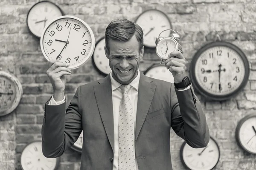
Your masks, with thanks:
[(108, 74), (107, 77), (98, 82), (98, 85), (94, 85), (94, 94), (109, 143), (114, 152), (114, 121), (110, 75)]

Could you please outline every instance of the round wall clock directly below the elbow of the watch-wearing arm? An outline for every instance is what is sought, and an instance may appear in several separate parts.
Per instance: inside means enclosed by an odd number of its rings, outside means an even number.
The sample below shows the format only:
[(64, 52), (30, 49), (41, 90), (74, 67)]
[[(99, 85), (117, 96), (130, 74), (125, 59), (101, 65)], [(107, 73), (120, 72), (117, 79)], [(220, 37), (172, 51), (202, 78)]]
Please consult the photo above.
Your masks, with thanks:
[(212, 170), (220, 159), (220, 149), (211, 137), (204, 148), (193, 148), (183, 142), (180, 147), (180, 159), (189, 170)]

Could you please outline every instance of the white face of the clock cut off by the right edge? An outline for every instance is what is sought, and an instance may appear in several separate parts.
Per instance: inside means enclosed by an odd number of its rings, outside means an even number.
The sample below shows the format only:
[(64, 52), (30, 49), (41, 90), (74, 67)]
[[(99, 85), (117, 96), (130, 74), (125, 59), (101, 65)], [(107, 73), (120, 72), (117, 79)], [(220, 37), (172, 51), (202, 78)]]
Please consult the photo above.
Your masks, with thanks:
[(247, 119), (239, 130), (241, 145), (256, 154), (256, 116)]

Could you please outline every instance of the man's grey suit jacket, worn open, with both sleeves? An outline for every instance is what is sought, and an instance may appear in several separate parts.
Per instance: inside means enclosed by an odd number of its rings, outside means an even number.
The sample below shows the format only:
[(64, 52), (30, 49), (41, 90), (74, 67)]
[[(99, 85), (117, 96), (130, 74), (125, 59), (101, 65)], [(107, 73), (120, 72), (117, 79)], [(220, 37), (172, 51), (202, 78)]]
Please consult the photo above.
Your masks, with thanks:
[[(172, 170), (171, 127), (191, 147), (206, 147), (209, 142), (206, 118), (192, 86), (177, 91), (173, 83), (141, 74), (136, 119), (135, 153), (139, 170)], [(112, 170), (114, 127), (110, 75), (79, 86), (67, 109), (65, 103), (45, 104), (44, 156), (61, 156), (82, 130), (81, 170)]]

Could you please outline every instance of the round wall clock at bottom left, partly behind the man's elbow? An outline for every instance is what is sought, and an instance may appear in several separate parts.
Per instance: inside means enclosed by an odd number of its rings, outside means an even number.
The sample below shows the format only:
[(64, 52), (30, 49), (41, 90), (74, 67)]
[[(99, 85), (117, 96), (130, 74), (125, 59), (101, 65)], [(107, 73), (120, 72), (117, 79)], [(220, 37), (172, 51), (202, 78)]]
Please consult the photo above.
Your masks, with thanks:
[(60, 162), (58, 158), (46, 158), (42, 152), (42, 141), (33, 141), (24, 147), (20, 164), (22, 170), (56, 170)]

